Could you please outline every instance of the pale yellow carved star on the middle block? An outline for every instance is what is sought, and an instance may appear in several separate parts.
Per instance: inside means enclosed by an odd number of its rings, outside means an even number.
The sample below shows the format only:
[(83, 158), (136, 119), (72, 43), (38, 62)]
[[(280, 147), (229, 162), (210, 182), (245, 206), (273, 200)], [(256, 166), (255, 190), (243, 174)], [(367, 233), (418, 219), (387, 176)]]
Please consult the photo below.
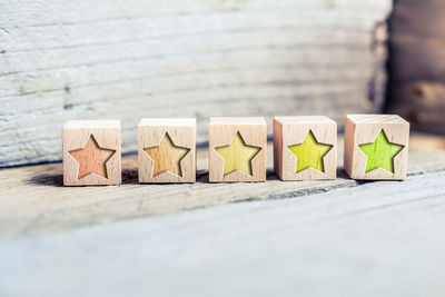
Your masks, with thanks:
[(237, 132), (229, 146), (217, 147), (215, 150), (224, 159), (224, 176), (236, 170), (251, 176), (251, 159), (261, 148), (246, 145), (241, 135)]

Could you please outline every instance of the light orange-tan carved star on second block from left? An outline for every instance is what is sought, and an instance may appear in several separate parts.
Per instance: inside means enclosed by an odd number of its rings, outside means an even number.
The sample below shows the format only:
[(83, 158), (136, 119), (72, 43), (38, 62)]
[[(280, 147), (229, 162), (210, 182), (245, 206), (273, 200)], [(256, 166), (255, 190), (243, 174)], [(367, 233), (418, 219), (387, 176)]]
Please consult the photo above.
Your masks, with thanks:
[(145, 148), (144, 151), (155, 162), (154, 177), (166, 171), (182, 177), (180, 161), (187, 156), (190, 149), (175, 146), (170, 136), (166, 132), (159, 146)]

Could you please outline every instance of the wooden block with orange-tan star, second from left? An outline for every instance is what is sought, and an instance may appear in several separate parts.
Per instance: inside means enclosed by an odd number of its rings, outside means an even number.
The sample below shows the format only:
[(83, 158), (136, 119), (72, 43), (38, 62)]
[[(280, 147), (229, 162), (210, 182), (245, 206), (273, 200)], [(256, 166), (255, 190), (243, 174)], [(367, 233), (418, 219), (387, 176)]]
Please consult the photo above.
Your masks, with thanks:
[(139, 182), (196, 181), (196, 119), (142, 119)]

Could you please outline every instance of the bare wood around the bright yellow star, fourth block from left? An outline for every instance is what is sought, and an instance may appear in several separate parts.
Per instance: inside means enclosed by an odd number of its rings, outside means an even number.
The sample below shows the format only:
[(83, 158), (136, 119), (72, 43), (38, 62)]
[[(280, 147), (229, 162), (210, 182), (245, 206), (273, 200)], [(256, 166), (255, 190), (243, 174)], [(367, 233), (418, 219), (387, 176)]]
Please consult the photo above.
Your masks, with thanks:
[[(313, 133), (318, 143), (332, 146), (320, 158), (322, 169), (297, 172), (298, 158), (289, 150)], [(312, 155), (309, 150), (309, 154)], [(316, 152), (315, 152), (316, 154)], [(335, 179), (337, 177), (337, 123), (323, 116), (274, 118), (274, 169), (283, 180)]]

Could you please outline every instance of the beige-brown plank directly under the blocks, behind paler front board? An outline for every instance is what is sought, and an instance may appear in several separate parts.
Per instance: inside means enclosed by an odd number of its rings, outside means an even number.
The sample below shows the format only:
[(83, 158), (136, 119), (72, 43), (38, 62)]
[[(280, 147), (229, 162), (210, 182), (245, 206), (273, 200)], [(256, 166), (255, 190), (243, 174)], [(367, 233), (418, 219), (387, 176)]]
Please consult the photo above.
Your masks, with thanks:
[[(197, 182), (140, 185), (137, 156), (125, 157), (122, 185), (62, 187), (61, 164), (0, 170), (0, 237), (65, 232), (141, 217), (172, 215), (233, 202), (301, 198), (364, 185), (339, 170), (335, 180), (280, 181), (267, 149), (266, 182), (208, 184), (208, 150), (197, 154)], [(343, 156), (343, 139), (338, 142)], [(343, 159), (338, 158), (338, 167)], [(409, 151), (408, 176), (445, 170), (445, 151)], [(441, 181), (442, 182), (442, 181)], [(373, 187), (374, 182), (365, 184)], [(402, 181), (402, 185), (403, 181)], [(365, 205), (370, 200), (363, 200)]]

